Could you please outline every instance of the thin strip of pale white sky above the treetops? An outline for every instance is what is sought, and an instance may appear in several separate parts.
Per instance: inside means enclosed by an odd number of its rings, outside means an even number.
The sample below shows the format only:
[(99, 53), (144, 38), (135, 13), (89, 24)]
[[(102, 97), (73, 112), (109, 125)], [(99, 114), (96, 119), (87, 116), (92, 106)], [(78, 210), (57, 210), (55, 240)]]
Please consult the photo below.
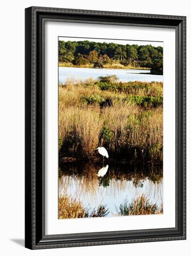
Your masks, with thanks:
[(154, 47), (161, 46), (163, 47), (163, 42), (157, 42), (157, 41), (141, 41), (141, 40), (117, 40), (117, 39), (96, 39), (96, 38), (79, 38), (79, 37), (59, 37), (59, 40), (61, 41), (92, 41), (92, 42), (99, 42), (99, 43), (117, 43), (122, 45), (152, 45)]

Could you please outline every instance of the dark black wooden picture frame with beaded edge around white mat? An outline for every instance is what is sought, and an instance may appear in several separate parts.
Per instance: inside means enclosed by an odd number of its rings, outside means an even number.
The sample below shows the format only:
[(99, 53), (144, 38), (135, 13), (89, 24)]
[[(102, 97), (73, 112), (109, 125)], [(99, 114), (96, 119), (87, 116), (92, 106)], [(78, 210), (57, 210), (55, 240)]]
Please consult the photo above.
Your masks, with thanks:
[[(44, 233), (44, 24), (46, 20), (176, 30), (176, 228)], [(186, 17), (29, 7), (25, 10), (25, 246), (46, 249), (186, 239)]]

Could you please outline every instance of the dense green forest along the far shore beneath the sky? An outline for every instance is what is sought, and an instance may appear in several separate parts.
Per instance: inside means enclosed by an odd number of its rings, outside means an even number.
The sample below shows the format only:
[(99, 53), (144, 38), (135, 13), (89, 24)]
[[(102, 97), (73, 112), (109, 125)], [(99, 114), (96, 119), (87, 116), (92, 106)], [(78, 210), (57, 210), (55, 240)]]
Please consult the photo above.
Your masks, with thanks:
[(74, 66), (143, 67), (163, 74), (163, 47), (59, 40), (59, 62)]

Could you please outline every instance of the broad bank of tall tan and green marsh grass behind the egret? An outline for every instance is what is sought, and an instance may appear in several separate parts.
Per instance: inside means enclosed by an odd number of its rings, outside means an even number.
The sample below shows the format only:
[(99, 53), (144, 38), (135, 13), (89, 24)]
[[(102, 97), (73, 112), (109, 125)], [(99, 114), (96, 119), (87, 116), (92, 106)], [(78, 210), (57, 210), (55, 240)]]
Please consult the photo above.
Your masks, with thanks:
[(59, 85), (59, 151), (78, 159), (163, 159), (163, 83), (68, 80)]

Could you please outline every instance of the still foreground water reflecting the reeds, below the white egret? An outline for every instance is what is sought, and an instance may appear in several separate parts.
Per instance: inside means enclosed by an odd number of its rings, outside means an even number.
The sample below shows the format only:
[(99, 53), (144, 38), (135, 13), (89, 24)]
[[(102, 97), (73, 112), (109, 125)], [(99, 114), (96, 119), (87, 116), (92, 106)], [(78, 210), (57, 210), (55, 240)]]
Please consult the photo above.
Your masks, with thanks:
[[(105, 164), (106, 166), (106, 164)], [(70, 195), (88, 209), (106, 205), (108, 216), (116, 216), (124, 201), (132, 202), (144, 194), (151, 203), (163, 203), (163, 171), (159, 165), (108, 163), (103, 176), (101, 165), (66, 163), (59, 165), (59, 196)], [(103, 173), (102, 173), (103, 174)]]

